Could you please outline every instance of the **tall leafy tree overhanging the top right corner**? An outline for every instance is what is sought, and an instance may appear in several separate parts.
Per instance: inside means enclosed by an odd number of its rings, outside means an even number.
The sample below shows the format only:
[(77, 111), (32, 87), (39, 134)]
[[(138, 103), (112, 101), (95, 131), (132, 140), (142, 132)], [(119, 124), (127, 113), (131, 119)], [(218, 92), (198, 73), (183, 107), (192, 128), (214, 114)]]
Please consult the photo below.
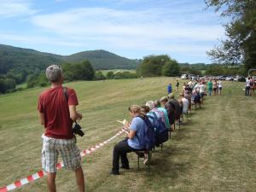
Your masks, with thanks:
[(241, 63), (256, 67), (256, 1), (255, 0), (205, 0), (208, 7), (222, 10), (229, 17), (225, 27), (227, 39), (222, 45), (207, 52), (219, 63)]

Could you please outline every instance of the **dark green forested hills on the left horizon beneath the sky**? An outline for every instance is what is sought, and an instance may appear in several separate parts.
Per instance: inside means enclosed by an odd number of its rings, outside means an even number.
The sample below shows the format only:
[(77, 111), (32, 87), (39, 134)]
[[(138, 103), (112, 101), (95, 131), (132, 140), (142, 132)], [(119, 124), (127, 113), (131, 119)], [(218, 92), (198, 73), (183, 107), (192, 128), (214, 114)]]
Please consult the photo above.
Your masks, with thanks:
[(135, 69), (137, 61), (114, 55), (105, 50), (84, 51), (73, 55), (55, 55), (39, 52), (34, 49), (22, 49), (9, 45), (0, 44), (0, 74), (12, 71), (26, 72), (43, 70), (52, 63), (73, 61), (90, 61), (96, 69), (126, 68)]

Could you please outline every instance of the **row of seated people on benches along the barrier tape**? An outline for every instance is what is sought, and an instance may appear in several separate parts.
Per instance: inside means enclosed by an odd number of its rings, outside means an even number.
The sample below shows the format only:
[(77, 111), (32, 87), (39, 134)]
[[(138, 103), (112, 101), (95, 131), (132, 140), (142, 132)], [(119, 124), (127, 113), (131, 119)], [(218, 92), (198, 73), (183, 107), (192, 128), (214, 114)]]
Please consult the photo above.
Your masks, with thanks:
[[(155, 134), (158, 129), (160, 129), (156, 127), (157, 125), (154, 122), (156, 120), (160, 120), (165, 125), (167, 131), (168, 129), (174, 131), (175, 123), (179, 122), (181, 115), (188, 113), (189, 99), (191, 101), (189, 93), (183, 92), (180, 94), (178, 100), (174, 98), (173, 94), (170, 94), (168, 96), (163, 96), (160, 100), (154, 102), (148, 101), (143, 106), (132, 105), (129, 107), (128, 110), (132, 118), (131, 124), (129, 127), (125, 127), (127, 130), (127, 137), (125, 137), (123, 141), (117, 143), (113, 148), (113, 167), (110, 173), (119, 175), (119, 160), (121, 160), (120, 168), (130, 169), (127, 153), (131, 152), (138, 153), (144, 151), (141, 155), (144, 156), (143, 162), (146, 164), (148, 158), (150, 159), (150, 156), (148, 156), (148, 148), (142, 144), (142, 140), (145, 140), (146, 137), (148, 137), (147, 134), (149, 134), (147, 131), (150, 128), (150, 125), (148, 125), (147, 122), (149, 121), (152, 127), (154, 127)], [(168, 139), (168, 132), (165, 132), (164, 134), (167, 134)], [(150, 139), (150, 136), (148, 138)], [(163, 137), (161, 137), (161, 139), (163, 139)], [(155, 143), (157, 143), (156, 140), (157, 137), (155, 137)]]

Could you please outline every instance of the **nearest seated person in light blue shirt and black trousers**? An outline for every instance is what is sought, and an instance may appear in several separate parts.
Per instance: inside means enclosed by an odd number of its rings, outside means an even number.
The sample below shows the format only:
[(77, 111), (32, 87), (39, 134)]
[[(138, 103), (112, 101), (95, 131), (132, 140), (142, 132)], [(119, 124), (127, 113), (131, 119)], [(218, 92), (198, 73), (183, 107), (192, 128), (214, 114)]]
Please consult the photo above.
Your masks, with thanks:
[(119, 175), (119, 159), (121, 159), (123, 169), (130, 169), (127, 153), (142, 150), (138, 137), (147, 125), (143, 119), (138, 116), (145, 116), (140, 106), (132, 105), (129, 109), (131, 117), (130, 131), (124, 141), (117, 143), (113, 148), (113, 167), (110, 172), (113, 175)]

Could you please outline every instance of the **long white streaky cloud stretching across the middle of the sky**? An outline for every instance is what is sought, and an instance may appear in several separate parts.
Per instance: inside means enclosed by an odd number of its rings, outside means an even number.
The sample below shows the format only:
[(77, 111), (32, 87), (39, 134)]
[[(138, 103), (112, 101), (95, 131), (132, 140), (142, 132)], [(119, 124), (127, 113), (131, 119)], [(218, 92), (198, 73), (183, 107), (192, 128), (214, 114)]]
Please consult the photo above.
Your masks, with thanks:
[[(166, 10), (165, 10), (166, 11)], [(105, 8), (73, 9), (51, 15), (37, 15), (32, 22), (51, 32), (75, 36), (122, 36), (125, 38), (148, 37), (184, 38), (212, 41), (224, 35), (222, 26), (199, 23), (187, 24), (184, 20), (165, 18), (162, 11), (131, 11)]]

